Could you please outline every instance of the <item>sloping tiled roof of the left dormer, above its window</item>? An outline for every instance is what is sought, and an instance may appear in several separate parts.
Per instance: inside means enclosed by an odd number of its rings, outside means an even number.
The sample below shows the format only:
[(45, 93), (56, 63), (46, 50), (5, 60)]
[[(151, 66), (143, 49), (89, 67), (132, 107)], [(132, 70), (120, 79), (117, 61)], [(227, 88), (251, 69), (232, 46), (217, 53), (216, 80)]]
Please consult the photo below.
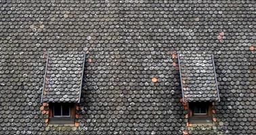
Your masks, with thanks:
[(81, 97), (84, 54), (49, 53), (42, 102), (78, 103)]

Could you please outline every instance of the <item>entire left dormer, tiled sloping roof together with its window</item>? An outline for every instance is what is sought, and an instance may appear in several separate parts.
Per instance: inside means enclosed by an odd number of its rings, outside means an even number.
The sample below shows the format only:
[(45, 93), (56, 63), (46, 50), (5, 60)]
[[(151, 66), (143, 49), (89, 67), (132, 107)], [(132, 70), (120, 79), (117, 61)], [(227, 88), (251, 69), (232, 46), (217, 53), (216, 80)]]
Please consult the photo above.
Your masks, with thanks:
[[(81, 51), (53, 51), (47, 54), (41, 108), (46, 124), (74, 124), (78, 118), (75, 105), (80, 102), (85, 68), (85, 54)], [(46, 108), (48, 109), (48, 108)], [(77, 109), (77, 108), (76, 108)], [(49, 113), (49, 115), (48, 115)]]

